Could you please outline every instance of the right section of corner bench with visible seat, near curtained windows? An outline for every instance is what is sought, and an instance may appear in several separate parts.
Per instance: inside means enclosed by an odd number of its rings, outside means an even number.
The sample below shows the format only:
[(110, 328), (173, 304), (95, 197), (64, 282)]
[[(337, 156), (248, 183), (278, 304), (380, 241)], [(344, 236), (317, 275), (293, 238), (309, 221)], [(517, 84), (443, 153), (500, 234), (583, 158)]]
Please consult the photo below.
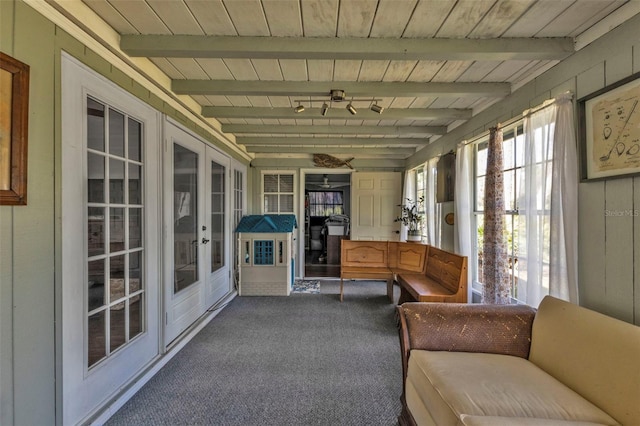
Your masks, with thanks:
[(404, 302), (467, 302), (467, 257), (429, 246), (425, 271), (396, 275), (398, 304)]

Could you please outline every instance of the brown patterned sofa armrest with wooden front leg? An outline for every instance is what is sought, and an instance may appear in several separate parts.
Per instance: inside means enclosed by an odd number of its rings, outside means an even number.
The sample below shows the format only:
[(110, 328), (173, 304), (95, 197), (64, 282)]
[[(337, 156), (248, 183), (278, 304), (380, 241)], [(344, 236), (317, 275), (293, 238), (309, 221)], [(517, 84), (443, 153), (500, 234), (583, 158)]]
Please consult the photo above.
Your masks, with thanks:
[(528, 358), (536, 310), (525, 305), (410, 302), (397, 307), (402, 368), (413, 349)]

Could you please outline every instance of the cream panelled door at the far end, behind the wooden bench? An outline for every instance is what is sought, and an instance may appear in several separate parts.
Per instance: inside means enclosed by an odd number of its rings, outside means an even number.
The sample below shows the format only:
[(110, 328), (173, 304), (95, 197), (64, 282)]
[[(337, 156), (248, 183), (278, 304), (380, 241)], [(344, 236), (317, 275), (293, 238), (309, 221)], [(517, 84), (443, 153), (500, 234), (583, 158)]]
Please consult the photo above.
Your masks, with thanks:
[(351, 239), (397, 241), (394, 222), (402, 198), (400, 172), (351, 174)]

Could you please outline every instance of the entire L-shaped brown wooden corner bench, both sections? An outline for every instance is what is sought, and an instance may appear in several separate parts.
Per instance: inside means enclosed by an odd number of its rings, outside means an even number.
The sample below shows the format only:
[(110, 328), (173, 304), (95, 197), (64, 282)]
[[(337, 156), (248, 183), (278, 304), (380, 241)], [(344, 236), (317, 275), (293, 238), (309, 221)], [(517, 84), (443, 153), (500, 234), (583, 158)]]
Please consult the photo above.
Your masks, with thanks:
[(342, 240), (341, 302), (345, 279), (385, 280), (391, 301), (395, 281), (400, 286), (398, 304), (467, 301), (466, 256), (420, 243)]

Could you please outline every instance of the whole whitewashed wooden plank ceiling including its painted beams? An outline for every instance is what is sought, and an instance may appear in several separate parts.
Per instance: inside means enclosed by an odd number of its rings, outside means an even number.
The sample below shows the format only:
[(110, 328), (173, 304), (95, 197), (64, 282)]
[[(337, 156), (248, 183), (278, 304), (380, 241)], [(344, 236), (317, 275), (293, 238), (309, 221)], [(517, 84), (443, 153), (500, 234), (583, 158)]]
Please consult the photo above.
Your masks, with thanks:
[(404, 159), (572, 54), (577, 36), (627, 2), (84, 3), (255, 158)]

